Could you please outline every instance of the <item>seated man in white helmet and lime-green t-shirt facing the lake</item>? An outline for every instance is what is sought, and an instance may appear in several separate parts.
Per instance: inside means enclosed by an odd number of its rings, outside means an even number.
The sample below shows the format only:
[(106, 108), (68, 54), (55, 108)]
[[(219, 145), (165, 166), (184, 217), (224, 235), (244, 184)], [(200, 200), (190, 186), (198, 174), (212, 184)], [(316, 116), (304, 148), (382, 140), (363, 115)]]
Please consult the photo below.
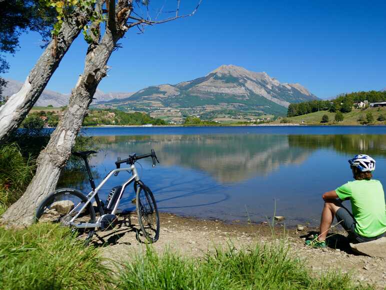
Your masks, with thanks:
[[(382, 184), (371, 180), (375, 160), (359, 154), (348, 160), (354, 181), (322, 195), (324, 208), (321, 213), (319, 235), (305, 243), (313, 247), (326, 247), (325, 238), (333, 217), (348, 232), (351, 242), (366, 242), (381, 238), (386, 232), (386, 210)], [(339, 199), (336, 199), (339, 198)], [(349, 199), (352, 214), (341, 201)]]

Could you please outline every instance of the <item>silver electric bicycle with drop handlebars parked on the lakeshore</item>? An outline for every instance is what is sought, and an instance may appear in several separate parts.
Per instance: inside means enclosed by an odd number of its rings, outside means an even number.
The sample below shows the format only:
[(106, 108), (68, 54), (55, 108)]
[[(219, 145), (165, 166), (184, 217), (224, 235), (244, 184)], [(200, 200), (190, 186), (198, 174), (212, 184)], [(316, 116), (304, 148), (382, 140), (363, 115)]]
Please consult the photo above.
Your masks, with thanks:
[[(138, 215), (141, 232), (149, 242), (156, 242), (159, 237), (159, 214), (157, 205), (151, 190), (140, 180), (134, 165), (139, 159), (151, 157), (152, 167), (155, 167), (155, 162), (159, 163), (159, 161), (154, 150), (151, 149), (151, 153), (138, 156), (135, 153), (131, 153), (127, 159), (123, 160), (118, 157), (115, 162), (116, 169), (111, 170), (97, 187), (95, 187), (87, 161), (87, 156), (94, 153), (97, 152), (72, 152), (74, 156), (83, 159), (92, 190), (86, 196), (72, 188), (61, 188), (53, 191), (42, 200), (37, 207), (35, 213), (36, 220), (40, 222), (61, 223), (64, 226), (69, 226), (81, 235), (87, 235), (85, 241), (88, 242), (95, 233), (95, 228), (96, 230), (103, 231), (111, 229), (117, 224), (118, 216), (120, 216), (120, 213), (117, 212), (119, 202), (122, 199), (126, 187), (133, 182), (134, 192), (136, 193), (136, 213)], [(120, 168), (120, 164), (122, 163), (129, 164), (130, 167)], [(121, 171), (127, 171), (131, 174), (131, 177), (122, 185), (113, 187), (104, 204), (99, 200), (99, 189), (112, 175), (117, 176)], [(96, 201), (96, 206), (92, 205), (91, 200), (93, 198)], [(133, 202), (134, 200), (132, 200), (132, 203)], [(95, 220), (95, 211), (99, 212), (97, 220)], [(124, 214), (122, 214), (122, 216), (124, 216)]]

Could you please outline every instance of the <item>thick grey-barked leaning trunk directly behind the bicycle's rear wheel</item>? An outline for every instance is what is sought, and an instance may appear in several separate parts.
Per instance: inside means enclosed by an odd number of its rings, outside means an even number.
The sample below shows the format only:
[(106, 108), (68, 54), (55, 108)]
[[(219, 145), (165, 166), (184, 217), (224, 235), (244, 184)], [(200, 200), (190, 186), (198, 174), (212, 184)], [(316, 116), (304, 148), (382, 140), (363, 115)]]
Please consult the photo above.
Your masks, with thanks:
[[(113, 0), (110, 0), (113, 1)], [(60, 171), (71, 154), (75, 137), (80, 130), (96, 87), (106, 75), (107, 61), (116, 42), (127, 30), (124, 24), (131, 13), (131, 5), (118, 1), (115, 19), (108, 22), (102, 40), (89, 46), (83, 74), (71, 92), (64, 116), (51, 134), (48, 145), (37, 158), (37, 171), (24, 194), (2, 216), (6, 226), (26, 226), (33, 222), (38, 202), (56, 187)], [(114, 25), (111, 28), (111, 25)]]

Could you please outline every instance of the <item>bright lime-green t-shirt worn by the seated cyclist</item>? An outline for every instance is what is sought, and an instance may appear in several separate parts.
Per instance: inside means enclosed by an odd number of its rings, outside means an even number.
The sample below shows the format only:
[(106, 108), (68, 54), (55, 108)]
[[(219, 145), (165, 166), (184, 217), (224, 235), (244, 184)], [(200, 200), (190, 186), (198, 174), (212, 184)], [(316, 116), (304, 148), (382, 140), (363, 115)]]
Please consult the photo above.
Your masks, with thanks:
[(378, 180), (349, 181), (335, 191), (341, 200), (350, 199), (357, 234), (374, 237), (386, 231), (384, 193)]

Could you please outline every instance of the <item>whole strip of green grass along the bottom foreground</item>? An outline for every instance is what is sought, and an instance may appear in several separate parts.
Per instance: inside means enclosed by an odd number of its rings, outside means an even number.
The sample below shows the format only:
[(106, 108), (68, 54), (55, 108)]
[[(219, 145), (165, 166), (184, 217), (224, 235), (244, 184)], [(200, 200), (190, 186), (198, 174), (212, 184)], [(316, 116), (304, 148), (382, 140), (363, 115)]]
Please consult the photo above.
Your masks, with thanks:
[[(317, 261), (315, 261), (317, 263)], [(67, 228), (35, 224), (0, 228), (1, 289), (353, 289), (347, 274), (313, 274), (283, 245), (216, 250), (187, 258), (148, 247), (107, 268), (98, 248), (84, 246)], [(368, 287), (367, 288), (371, 288)]]

